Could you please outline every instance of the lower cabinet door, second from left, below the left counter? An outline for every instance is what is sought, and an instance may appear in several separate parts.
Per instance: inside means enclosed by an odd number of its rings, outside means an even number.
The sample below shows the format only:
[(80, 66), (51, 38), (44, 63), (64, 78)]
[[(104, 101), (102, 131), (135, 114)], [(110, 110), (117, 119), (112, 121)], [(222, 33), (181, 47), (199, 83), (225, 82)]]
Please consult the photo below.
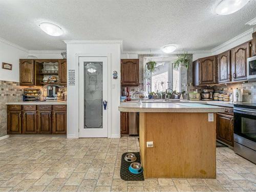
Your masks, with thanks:
[(22, 113), (22, 133), (37, 134), (37, 115), (36, 111), (24, 111)]

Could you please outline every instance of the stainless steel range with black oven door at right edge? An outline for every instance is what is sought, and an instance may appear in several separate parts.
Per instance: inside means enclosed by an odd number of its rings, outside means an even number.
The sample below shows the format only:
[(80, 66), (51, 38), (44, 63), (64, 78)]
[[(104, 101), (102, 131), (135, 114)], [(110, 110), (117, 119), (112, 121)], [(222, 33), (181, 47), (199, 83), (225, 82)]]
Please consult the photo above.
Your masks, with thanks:
[(234, 152), (256, 163), (256, 103), (234, 104)]

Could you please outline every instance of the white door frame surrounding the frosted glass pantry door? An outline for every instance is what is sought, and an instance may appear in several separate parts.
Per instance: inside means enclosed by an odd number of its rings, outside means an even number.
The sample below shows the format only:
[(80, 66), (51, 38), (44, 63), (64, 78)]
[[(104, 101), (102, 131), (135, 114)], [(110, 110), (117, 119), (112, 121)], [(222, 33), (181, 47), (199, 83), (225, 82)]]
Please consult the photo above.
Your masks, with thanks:
[[(77, 68), (78, 69), (78, 91), (76, 92), (78, 94), (78, 106), (79, 106), (79, 103), (80, 103), (80, 97), (79, 97), (79, 87), (80, 87), (80, 84), (79, 84), (79, 57), (106, 57), (107, 58), (107, 81), (108, 81), (108, 88), (107, 88), (107, 91), (108, 91), (108, 105), (107, 105), (107, 113), (108, 113), (108, 138), (111, 138), (111, 132), (112, 132), (112, 102), (111, 102), (111, 54), (76, 54), (76, 63), (78, 63), (77, 65)], [(78, 126), (76, 126), (76, 130), (77, 130), (77, 133), (78, 133), (78, 137), (79, 136), (79, 127), (80, 126), (80, 112), (79, 112), (79, 108), (77, 109), (77, 112), (78, 112)]]

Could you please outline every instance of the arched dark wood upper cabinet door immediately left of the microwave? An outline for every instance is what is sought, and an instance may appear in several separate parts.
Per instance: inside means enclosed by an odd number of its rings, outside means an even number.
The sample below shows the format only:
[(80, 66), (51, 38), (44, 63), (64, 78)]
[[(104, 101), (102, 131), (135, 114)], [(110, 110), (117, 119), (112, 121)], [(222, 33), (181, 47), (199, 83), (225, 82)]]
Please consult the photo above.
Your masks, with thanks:
[(250, 57), (250, 42), (246, 42), (231, 51), (232, 80), (247, 79), (247, 57)]

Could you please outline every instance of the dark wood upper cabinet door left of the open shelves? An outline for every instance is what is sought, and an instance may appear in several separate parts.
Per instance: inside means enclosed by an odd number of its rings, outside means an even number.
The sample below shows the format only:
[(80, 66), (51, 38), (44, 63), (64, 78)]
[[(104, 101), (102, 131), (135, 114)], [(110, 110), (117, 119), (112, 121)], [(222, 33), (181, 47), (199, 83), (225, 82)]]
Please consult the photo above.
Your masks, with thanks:
[(19, 59), (19, 82), (21, 86), (33, 86), (34, 81), (34, 60)]

